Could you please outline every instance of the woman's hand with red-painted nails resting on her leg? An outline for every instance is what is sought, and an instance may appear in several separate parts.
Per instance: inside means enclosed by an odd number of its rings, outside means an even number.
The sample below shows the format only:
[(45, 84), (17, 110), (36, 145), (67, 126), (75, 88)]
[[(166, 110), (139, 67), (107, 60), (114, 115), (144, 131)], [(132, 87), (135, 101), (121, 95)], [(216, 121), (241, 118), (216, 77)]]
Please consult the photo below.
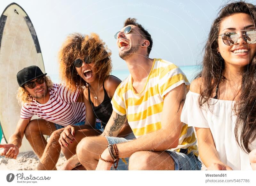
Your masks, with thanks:
[(68, 144), (75, 141), (75, 128), (71, 125), (68, 125), (60, 134), (59, 143), (61, 146), (68, 146)]

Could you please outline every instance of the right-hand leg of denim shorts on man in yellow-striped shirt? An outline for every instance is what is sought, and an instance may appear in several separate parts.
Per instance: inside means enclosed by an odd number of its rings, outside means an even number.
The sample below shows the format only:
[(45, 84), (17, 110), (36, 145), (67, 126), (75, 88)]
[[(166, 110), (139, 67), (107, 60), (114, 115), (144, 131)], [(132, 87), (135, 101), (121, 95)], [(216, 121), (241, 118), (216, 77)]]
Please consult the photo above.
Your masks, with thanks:
[(194, 155), (193, 152), (184, 154), (181, 152), (166, 150), (174, 160), (174, 170), (201, 170), (201, 161)]

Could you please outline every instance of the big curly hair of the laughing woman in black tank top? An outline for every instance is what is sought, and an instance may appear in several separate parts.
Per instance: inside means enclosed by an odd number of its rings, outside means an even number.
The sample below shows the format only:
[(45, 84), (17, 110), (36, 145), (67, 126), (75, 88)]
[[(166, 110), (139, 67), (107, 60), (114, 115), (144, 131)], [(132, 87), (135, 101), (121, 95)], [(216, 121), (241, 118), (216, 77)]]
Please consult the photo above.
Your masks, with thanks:
[(99, 35), (83, 35), (74, 33), (68, 35), (59, 52), (60, 76), (66, 86), (72, 91), (88, 87), (88, 84), (77, 74), (74, 61), (81, 56), (88, 56), (94, 62), (96, 77), (104, 81), (112, 70), (111, 52)]

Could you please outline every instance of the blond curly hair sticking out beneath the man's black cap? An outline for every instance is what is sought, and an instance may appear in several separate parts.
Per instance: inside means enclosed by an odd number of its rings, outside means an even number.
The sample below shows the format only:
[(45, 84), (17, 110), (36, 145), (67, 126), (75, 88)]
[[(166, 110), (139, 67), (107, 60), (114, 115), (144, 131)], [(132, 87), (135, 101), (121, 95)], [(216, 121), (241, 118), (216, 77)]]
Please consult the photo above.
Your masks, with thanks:
[[(45, 83), (46, 86), (49, 88), (52, 88), (52, 80), (49, 76), (45, 76)], [(19, 87), (18, 93), (17, 93), (17, 99), (19, 104), (22, 106), (24, 103), (30, 103), (33, 98), (29, 95), (28, 91), (24, 87)]]

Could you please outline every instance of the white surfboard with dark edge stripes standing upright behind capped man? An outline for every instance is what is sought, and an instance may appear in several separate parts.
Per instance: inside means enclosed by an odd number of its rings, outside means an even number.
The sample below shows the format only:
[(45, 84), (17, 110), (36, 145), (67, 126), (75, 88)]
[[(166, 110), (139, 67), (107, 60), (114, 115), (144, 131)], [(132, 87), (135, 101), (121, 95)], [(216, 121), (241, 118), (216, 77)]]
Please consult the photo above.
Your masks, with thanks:
[[(39, 66), (45, 73), (35, 28), (23, 8), (12, 3), (0, 17), (0, 122), (7, 143), (20, 119), (16, 75), (24, 67), (31, 65)], [(31, 150), (32, 147), (24, 136), (20, 152)]]

